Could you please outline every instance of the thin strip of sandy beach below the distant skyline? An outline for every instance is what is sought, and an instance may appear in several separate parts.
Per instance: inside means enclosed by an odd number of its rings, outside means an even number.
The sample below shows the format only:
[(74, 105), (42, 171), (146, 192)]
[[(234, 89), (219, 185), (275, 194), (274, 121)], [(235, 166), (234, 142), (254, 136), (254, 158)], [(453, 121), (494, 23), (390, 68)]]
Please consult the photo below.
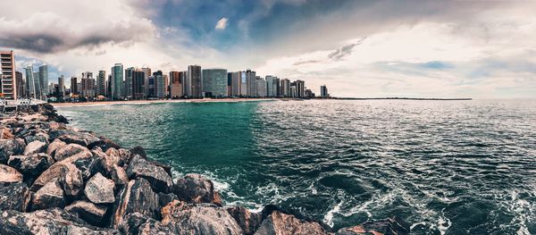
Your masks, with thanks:
[(230, 99), (165, 99), (165, 100), (123, 100), (123, 101), (97, 101), (80, 103), (50, 103), (54, 107), (93, 106), (93, 105), (143, 105), (162, 103), (214, 103), (214, 102), (251, 102), (274, 101), (275, 98), (230, 98)]

